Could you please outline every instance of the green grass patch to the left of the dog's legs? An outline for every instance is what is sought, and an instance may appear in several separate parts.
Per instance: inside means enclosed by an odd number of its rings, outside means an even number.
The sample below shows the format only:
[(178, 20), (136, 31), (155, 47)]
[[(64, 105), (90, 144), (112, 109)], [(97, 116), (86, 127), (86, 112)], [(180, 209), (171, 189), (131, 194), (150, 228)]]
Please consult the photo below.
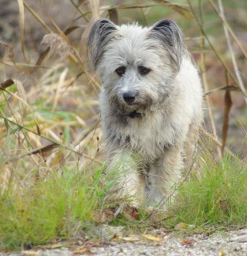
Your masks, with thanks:
[(63, 168), (36, 183), (8, 186), (0, 200), (0, 247), (46, 244), (83, 232), (103, 195), (101, 173)]

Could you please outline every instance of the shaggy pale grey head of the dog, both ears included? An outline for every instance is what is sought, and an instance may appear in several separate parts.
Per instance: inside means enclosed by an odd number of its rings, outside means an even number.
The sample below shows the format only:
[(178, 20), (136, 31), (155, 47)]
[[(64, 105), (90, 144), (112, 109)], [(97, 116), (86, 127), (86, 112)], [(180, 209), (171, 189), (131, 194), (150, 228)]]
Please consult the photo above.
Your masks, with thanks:
[(171, 93), (186, 46), (170, 19), (151, 28), (100, 19), (91, 29), (88, 53), (110, 104), (123, 114), (142, 113)]

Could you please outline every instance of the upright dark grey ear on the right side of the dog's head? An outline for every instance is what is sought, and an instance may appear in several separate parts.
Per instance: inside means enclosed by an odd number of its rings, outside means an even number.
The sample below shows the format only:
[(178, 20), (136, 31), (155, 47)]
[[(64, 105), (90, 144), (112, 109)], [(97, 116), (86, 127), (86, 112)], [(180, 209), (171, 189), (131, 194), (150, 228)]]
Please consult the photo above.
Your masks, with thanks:
[(161, 19), (151, 27), (150, 36), (159, 39), (164, 44), (179, 68), (186, 46), (184, 34), (178, 25), (171, 19)]

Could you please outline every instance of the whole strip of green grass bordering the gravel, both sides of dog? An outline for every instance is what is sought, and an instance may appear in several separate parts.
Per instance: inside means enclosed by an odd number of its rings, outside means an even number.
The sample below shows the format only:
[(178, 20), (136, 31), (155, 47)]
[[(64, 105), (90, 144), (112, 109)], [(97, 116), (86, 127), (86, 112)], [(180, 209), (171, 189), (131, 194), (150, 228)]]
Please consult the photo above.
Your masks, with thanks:
[[(122, 202), (109, 193), (113, 185), (110, 180), (103, 183), (104, 168), (86, 167), (82, 171), (74, 161), (58, 169), (32, 169), (25, 176), (18, 176), (16, 171), (15, 179), (10, 179), (0, 198), (0, 248), (33, 247), (48, 244), (52, 238), (69, 241), (87, 234), (92, 227), (95, 230), (95, 224), (99, 224), (96, 215), (107, 214), (107, 210), (113, 213)], [(37, 176), (38, 173), (42, 175)], [(245, 184), (245, 163), (229, 157), (220, 162), (209, 159), (200, 172), (178, 188), (171, 213), (168, 212), (173, 217), (162, 221), (160, 227), (174, 227), (181, 222), (197, 227), (246, 224)], [(123, 210), (116, 218), (107, 217), (104, 222), (125, 226), (130, 233), (157, 227), (159, 220), (151, 217), (146, 221), (148, 214), (141, 210), (140, 219), (134, 219), (131, 211), (127, 207), (126, 212)], [(157, 217), (165, 219), (163, 213)]]

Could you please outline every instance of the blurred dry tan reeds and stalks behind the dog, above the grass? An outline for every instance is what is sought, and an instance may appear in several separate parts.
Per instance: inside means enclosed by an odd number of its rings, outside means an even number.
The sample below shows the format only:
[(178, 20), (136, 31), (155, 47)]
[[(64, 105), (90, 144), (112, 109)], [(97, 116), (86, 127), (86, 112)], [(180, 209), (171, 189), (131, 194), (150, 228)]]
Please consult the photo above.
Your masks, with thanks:
[[(224, 1), (223, 8), (226, 25), (232, 28), (237, 39), (236, 42), (230, 36), (242, 82), (246, 84), (247, 3), (244, 0)], [(100, 17), (112, 19), (117, 24), (135, 21), (142, 26), (151, 26), (159, 19), (169, 18), (181, 26), (186, 43), (201, 69), (205, 93), (208, 94), (205, 104), (207, 130), (220, 143), (222, 136), (225, 137), (224, 144), (226, 141), (228, 148), (243, 155), (246, 101), (242, 90), (239, 90), (223, 28), (225, 23), (219, 12), (218, 2), (210, 0), (1, 0), (1, 83), (8, 79), (19, 83), (6, 89), (17, 96), (2, 91), (2, 117), (13, 118), (16, 123), (31, 129), (38, 127), (43, 135), (66, 145), (79, 143), (83, 148), (88, 144), (84, 134), (90, 134), (90, 130), (94, 137), (100, 137), (101, 142), (100, 125), (98, 130), (94, 127), (99, 120), (97, 95), (100, 85), (86, 63), (86, 36), (90, 26)], [(53, 38), (46, 36), (51, 33)], [(225, 90), (227, 86), (228, 90)], [(222, 125), (228, 116), (225, 92), (230, 90), (232, 104), (228, 133), (222, 135)], [(5, 132), (6, 127), (2, 125), (1, 145), (5, 144)], [(25, 136), (33, 137), (27, 145), (29, 150), (46, 145), (46, 140), (39, 136), (30, 133)], [(92, 136), (88, 137), (91, 139)], [(20, 151), (27, 150), (23, 146), (18, 146)]]

